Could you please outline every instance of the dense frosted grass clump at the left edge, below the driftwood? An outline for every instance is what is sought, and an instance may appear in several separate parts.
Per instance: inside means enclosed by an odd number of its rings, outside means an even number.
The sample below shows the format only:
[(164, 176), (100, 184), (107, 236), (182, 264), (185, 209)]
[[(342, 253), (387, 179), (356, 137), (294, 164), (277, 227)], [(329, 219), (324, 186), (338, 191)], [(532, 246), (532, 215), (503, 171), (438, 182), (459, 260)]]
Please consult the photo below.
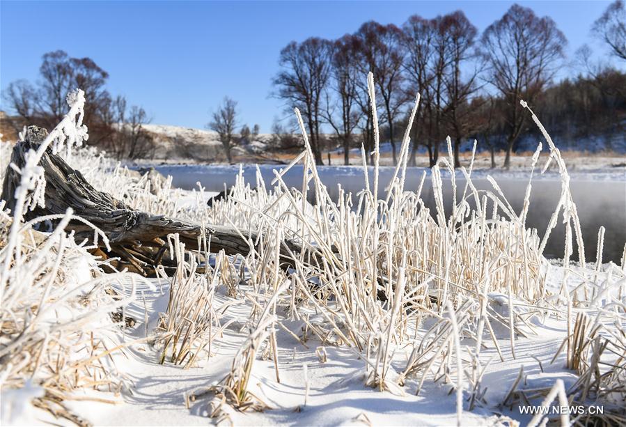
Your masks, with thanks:
[[(68, 104), (70, 111), (63, 121), (26, 154), (13, 212), (0, 212), (3, 423), (18, 419), (22, 415), (19, 411), (31, 400), (55, 417), (88, 424), (65, 401), (108, 401), (79, 390), (118, 394), (127, 387), (116, 367), (116, 354), (125, 346), (119, 328), (124, 323), (123, 307), (134, 297), (134, 279), (124, 273), (104, 274), (88, 253), (91, 242), (77, 244), (65, 233), (68, 222), (76, 219), (71, 210), (47, 233), (37, 228), (45, 229), (53, 218), (24, 220), (25, 212), (45, 203), (45, 180), (38, 165), (45, 150), (64, 150), (69, 158), (72, 147), (81, 146), (87, 138), (82, 124), (84, 93), (70, 93)], [(14, 164), (11, 167), (17, 169)], [(97, 229), (94, 238), (106, 242)]]

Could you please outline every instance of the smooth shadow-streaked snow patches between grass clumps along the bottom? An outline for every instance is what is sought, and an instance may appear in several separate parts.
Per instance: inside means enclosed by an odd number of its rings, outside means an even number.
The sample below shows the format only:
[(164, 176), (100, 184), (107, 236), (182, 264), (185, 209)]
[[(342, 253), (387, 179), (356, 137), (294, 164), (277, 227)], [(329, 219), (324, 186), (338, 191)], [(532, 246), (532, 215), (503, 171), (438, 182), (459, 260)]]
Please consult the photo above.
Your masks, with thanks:
[[(562, 268), (552, 267), (548, 280), (550, 286), (557, 286), (561, 277)], [(139, 320), (132, 329), (126, 329), (124, 339), (127, 341), (141, 339), (145, 335), (144, 313), (148, 313), (148, 330), (152, 330), (157, 325), (159, 313), (166, 310), (169, 284), (163, 284), (162, 287), (158, 286), (157, 281), (153, 281), (153, 284), (155, 286), (152, 289), (139, 285), (138, 293), (145, 297), (145, 308), (141, 298), (127, 306), (127, 316)], [(506, 295), (494, 294), (490, 297), (499, 306), (508, 304)], [(220, 293), (215, 304), (219, 306), (228, 300), (229, 297)], [(120, 366), (133, 385), (132, 391), (123, 394), (124, 403), (111, 405), (75, 401), (72, 402), (72, 409), (88, 416), (97, 426), (206, 425), (211, 398), (198, 398), (187, 408), (185, 396), (203, 391), (224, 378), (237, 348), (247, 336), (244, 325), (250, 309), (251, 304), (238, 304), (226, 311), (223, 323), (228, 320), (235, 320), (235, 323), (225, 330), (210, 359), (203, 360), (196, 367), (185, 369), (167, 362), (159, 365), (157, 352), (148, 343), (132, 346), (126, 351), (123, 365)], [(297, 324), (297, 321), (287, 323), (294, 330)], [(516, 341), (517, 359), (512, 358), (506, 337), (500, 340), (503, 361), (499, 359), (494, 346), (483, 350), (482, 357), (492, 360), (481, 385), (487, 388), (487, 405), (468, 412), (466, 402), (464, 425), (493, 426), (505, 421), (506, 417), (521, 425), (530, 421), (530, 415), (499, 406), (522, 366), (526, 374), (524, 387), (528, 389), (551, 387), (557, 378), (563, 379), (567, 388), (577, 380), (577, 376), (564, 367), (563, 354), (550, 363), (567, 332), (566, 323), (547, 318), (545, 321), (536, 319), (533, 325), (537, 329), (535, 335)], [(416, 383), (413, 381), (407, 382), (401, 393), (377, 391), (364, 385), (364, 364), (354, 356), (352, 350), (326, 346), (327, 360), (322, 362), (311, 350), (320, 345), (319, 341), (307, 341), (307, 349), (283, 331), (279, 332), (277, 341), (281, 381), (276, 382), (272, 360), (260, 359), (255, 362), (250, 381), (251, 391), (269, 408), (264, 412), (228, 410), (228, 417), (234, 425), (338, 426), (367, 424), (368, 421), (373, 425), (446, 426), (456, 422), (455, 396), (450, 393), (451, 385), (427, 382), (419, 396), (414, 395)], [(464, 345), (471, 344), (465, 342)], [(409, 349), (398, 348), (392, 366), (401, 369), (409, 352)], [(306, 405), (305, 364), (308, 366), (309, 389)], [(20, 392), (30, 393), (29, 390)], [(36, 390), (32, 389), (33, 393)], [(120, 401), (106, 393), (100, 393), (99, 396)], [(6, 412), (3, 410), (3, 413)], [(23, 415), (27, 416), (28, 412)], [(28, 424), (27, 418), (13, 419), (7, 424), (15, 424), (16, 420)], [(3, 424), (5, 422), (3, 419)]]

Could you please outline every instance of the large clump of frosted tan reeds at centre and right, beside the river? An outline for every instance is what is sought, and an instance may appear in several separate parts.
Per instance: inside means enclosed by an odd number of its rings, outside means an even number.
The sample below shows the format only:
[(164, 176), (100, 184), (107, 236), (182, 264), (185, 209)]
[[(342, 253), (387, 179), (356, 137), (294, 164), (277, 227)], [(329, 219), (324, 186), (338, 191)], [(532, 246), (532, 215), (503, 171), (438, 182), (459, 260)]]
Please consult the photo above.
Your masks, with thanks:
[[(371, 75), (368, 82), (377, 129)], [(418, 102), (419, 97), (416, 106)], [(623, 269), (614, 268), (607, 273), (600, 267), (586, 267), (565, 162), (534, 115), (550, 150), (542, 171), (556, 162), (563, 183), (561, 199), (554, 215), (547, 219), (544, 232), (526, 226), (541, 144), (533, 155), (531, 179), (520, 212), (508, 203), (493, 178), (489, 178), (491, 190), (476, 189), (472, 183), (473, 158), (469, 168), (462, 167), (456, 173), (452, 157), (442, 159), (432, 168), (435, 210), (431, 212), (421, 199), (421, 188), (417, 192), (405, 188), (408, 130), (389, 187), (379, 189), (375, 132), (373, 168), (368, 168), (363, 160), (363, 191), (345, 194), (340, 188), (334, 201), (317, 173), (297, 109), (295, 114), (305, 150), (292, 164), (275, 172), (274, 187), (267, 187), (258, 174), (252, 190), (240, 174), (228, 199), (216, 203), (210, 212), (214, 219), (228, 215), (228, 222), (236, 223), (241, 230), (262, 232), (260, 253), (250, 254), (244, 261), (249, 267), (246, 286), (257, 295), (264, 295), (265, 306), (257, 302), (253, 313), (276, 313), (274, 320), (259, 322), (253, 329), (238, 356), (241, 362), (233, 364), (233, 371), (219, 386), (236, 388), (232, 393), (238, 396), (235, 407), (240, 407), (239, 396), (244, 396), (243, 389), (247, 387), (244, 379), (251, 375), (251, 349), (258, 348), (263, 339), (267, 339), (268, 346), (276, 346), (271, 338), (273, 328), (278, 325), (288, 329), (278, 313), (288, 313), (284, 316), (299, 321), (301, 328), (288, 330), (303, 345), (315, 340), (320, 346), (350, 349), (356, 359), (363, 361), (363, 381), (371, 387), (397, 394), (418, 394), (427, 381), (451, 385), (457, 392), (458, 417), (463, 410), (485, 402), (485, 389), (480, 382), (490, 360), (481, 357), (481, 352), (493, 348), (501, 360), (515, 359), (516, 341), (535, 334), (533, 319), (565, 319), (568, 304), (573, 304), (574, 309), (592, 306), (593, 301), (596, 306), (615, 304), (611, 309), (602, 308), (602, 314), (598, 312), (597, 323), (603, 325), (605, 335), (620, 336), (613, 347), (615, 352), (623, 347), (623, 334), (616, 326), (625, 320), (623, 302), (616, 295), (618, 282), (625, 277)], [(407, 129), (411, 126), (408, 123)], [(284, 173), (297, 162), (304, 164), (299, 190), (288, 188), (283, 181)], [(446, 181), (452, 187), (451, 209), (444, 208)], [(567, 255), (563, 284), (554, 289), (546, 283), (551, 265), (543, 257), (543, 249), (560, 216), (568, 228), (564, 242)], [(282, 238), (315, 247), (323, 256), (310, 260), (303, 254), (292, 254), (295, 264), (279, 268), (279, 258), (272, 254), (278, 253)], [(574, 244), (580, 261), (576, 268), (570, 263)], [(599, 248), (599, 259), (601, 253)], [(606, 279), (604, 288), (595, 274)], [(573, 280), (580, 284), (572, 289)], [(582, 289), (585, 293), (579, 292)], [(600, 302), (597, 293), (603, 290), (606, 299)], [(596, 297), (592, 300), (593, 295)], [(270, 301), (282, 310), (269, 309)], [(607, 313), (613, 316), (610, 320)], [(265, 334), (261, 327), (265, 327)], [(595, 346), (596, 335), (585, 334), (576, 329), (574, 336), (565, 340), (571, 341), (574, 349), (570, 350), (570, 359)], [(508, 354), (501, 349), (505, 344)], [(411, 354), (405, 368), (398, 371), (391, 362), (396, 351), (407, 346)], [(618, 362), (623, 363), (622, 359)], [(581, 364), (588, 366), (590, 362), (578, 362), (577, 366)], [(607, 378), (621, 375), (620, 369), (611, 369)], [(616, 383), (623, 384), (623, 378), (611, 384)], [(585, 398), (589, 396), (586, 394)], [(597, 394), (594, 398), (609, 396)]]

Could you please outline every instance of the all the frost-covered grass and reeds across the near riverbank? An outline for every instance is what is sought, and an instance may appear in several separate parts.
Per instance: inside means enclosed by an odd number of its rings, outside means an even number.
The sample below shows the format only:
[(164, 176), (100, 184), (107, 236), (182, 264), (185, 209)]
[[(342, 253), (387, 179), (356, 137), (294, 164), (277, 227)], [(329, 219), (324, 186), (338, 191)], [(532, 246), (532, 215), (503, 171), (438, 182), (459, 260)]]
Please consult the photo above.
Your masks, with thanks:
[[(369, 83), (376, 111), (371, 77)], [(418, 102), (417, 98), (416, 106)], [(276, 407), (263, 387), (289, 382), (288, 366), (302, 352), (310, 358), (302, 359), (308, 360), (301, 366), (302, 401), (289, 407), (289, 420), (295, 424), (312, 421), (299, 417), (315, 411), (312, 402), (318, 397), (311, 396), (318, 379), (315, 371), (322, 371), (338, 354), (346, 366), (357, 367), (355, 376), (345, 371), (338, 380), (350, 382), (352, 389), (423, 398), (426, 390), (432, 392), (432, 385), (446, 387), (454, 394), (451, 405), (455, 407), (446, 423), (461, 424), (469, 412), (477, 417), (495, 413), (497, 422), (507, 422), (508, 417), (519, 418), (513, 407), (544, 401), (550, 405), (554, 398), (561, 404), (605, 408), (604, 414), (561, 414), (555, 421), (626, 422), (625, 261), (602, 265), (602, 229), (597, 262), (584, 258), (567, 169), (534, 115), (550, 154), (540, 165), (538, 147), (533, 175), (555, 164), (562, 182), (556, 211), (545, 218), (546, 228), (539, 231), (526, 225), (533, 176), (524, 206), (516, 212), (495, 180), (491, 190), (474, 187), (473, 162), (462, 169), (465, 180), (460, 192), (455, 188), (451, 193), (451, 210), (444, 208), (441, 171), (450, 173), (456, 187), (452, 159), (443, 159), (433, 168), (430, 179), (436, 207), (430, 212), (421, 199), (422, 185), (417, 192), (405, 189), (408, 134), (382, 198), (375, 196), (379, 194), (376, 137), (376, 166), (373, 171), (363, 166), (365, 189), (359, 194), (340, 189), (334, 201), (320, 180), (302, 118), (296, 114), (305, 150), (275, 171), (271, 183), (257, 173), (256, 183), (250, 185), (240, 173), (228, 198), (215, 201), (211, 208), (205, 205), (199, 186), (185, 196), (171, 187), (171, 179), (134, 177), (106, 157), (76, 150), (72, 164), (95, 187), (134, 208), (232, 226), (244, 237), (258, 231), (258, 241), (250, 242), (246, 256), (229, 257), (210, 253), (210, 236), (198, 244), (203, 248), (198, 251), (187, 251), (176, 235), (169, 236), (166, 256), (177, 267), (173, 273), (157, 268), (158, 277), (150, 283), (162, 287), (165, 303), (152, 312), (145, 299), (133, 292), (132, 284), (139, 277), (104, 274), (97, 259), (86, 254), (89, 242), (75, 244), (60, 227), (52, 233), (36, 233), (33, 224), (23, 224), (18, 217), (17, 231), (8, 232), (7, 241), (13, 243), (1, 252), (7, 271), (2, 276), (3, 394), (34, 387), (37, 393), (56, 396), (54, 401), (62, 405), (79, 387), (122, 390), (124, 376), (115, 368), (113, 350), (130, 350), (136, 344), (120, 337), (120, 325), (109, 313), (130, 303), (143, 307), (145, 319), (137, 328), (141, 338), (132, 336), (148, 340), (143, 348), (155, 356), (151, 359), (155, 367), (200, 369), (197, 376), (204, 384), (185, 391), (185, 404), (199, 405), (201, 414), (215, 417), (214, 421), (242, 423), (242, 412), (252, 416), (265, 411), (269, 417), (272, 410), (291, 405)], [(374, 123), (377, 130), (376, 114)], [(80, 125), (79, 120), (75, 124)], [(298, 163), (305, 173), (302, 186), (294, 189), (283, 176)], [(372, 187), (368, 173), (374, 174)], [(36, 176), (36, 169), (32, 175)], [(425, 179), (424, 174), (422, 184)], [(37, 187), (24, 194), (25, 209), (29, 195), (38, 194)], [(3, 218), (5, 229), (12, 230), (11, 217)], [(550, 231), (559, 221), (567, 230), (562, 267), (543, 256)], [(41, 238), (38, 244), (33, 244), (35, 235)], [(302, 251), (290, 253), (288, 263), (281, 255), (290, 250), (283, 244), (285, 239), (302, 244)], [(579, 249), (577, 257), (574, 247)], [(77, 267), (72, 254), (89, 267)], [(72, 282), (61, 274), (72, 271), (88, 271), (94, 277)], [(22, 275), (26, 281), (17, 281)], [(109, 288), (114, 292), (107, 293)], [(5, 304), (7, 297), (10, 304)], [(124, 310), (118, 323), (123, 323)], [(529, 343), (545, 343), (542, 334), (547, 330), (563, 331), (557, 334), (560, 346), (549, 348), (549, 359), (539, 359), (539, 353), (531, 357), (541, 373), (549, 371), (551, 364), (563, 364), (575, 379), (529, 375), (529, 366), (520, 365), (517, 377), (503, 385), (505, 392), (490, 394), (499, 381), (492, 378), (499, 371), (492, 370), (525, 359)], [(79, 350), (68, 352), (72, 346)], [(60, 356), (67, 354), (72, 360)], [(218, 367), (224, 363), (226, 368)], [(31, 397), (38, 403), (41, 396)], [(364, 412), (354, 421), (370, 422)], [(541, 417), (526, 421), (538, 423)]]

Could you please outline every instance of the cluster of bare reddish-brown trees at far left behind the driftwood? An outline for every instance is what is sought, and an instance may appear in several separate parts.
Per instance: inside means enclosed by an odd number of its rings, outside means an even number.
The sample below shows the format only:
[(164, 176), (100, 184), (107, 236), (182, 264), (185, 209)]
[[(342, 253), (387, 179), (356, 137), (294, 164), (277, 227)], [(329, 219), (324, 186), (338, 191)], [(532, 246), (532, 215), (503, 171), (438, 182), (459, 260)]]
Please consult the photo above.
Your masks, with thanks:
[(52, 129), (67, 112), (65, 97), (75, 88), (85, 92), (84, 123), (89, 126), (90, 145), (99, 146), (119, 159), (150, 157), (155, 141), (143, 125), (150, 122), (146, 111), (127, 104), (105, 88), (109, 74), (92, 59), (72, 58), (57, 50), (42, 57), (35, 85), (26, 80), (11, 82), (3, 98), (15, 116), (6, 121), (16, 132), (24, 125)]

